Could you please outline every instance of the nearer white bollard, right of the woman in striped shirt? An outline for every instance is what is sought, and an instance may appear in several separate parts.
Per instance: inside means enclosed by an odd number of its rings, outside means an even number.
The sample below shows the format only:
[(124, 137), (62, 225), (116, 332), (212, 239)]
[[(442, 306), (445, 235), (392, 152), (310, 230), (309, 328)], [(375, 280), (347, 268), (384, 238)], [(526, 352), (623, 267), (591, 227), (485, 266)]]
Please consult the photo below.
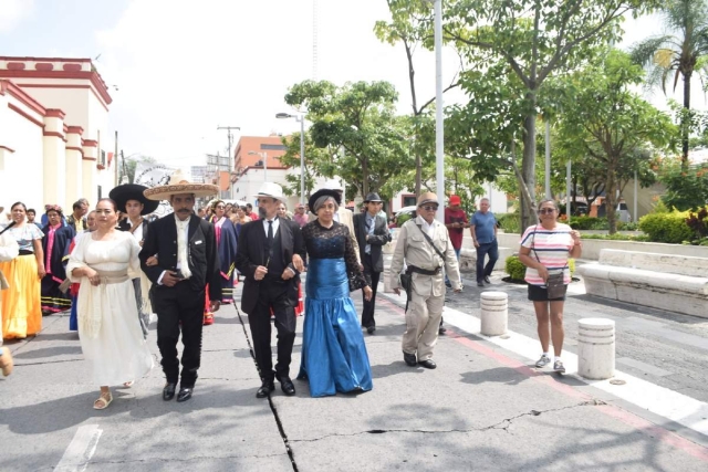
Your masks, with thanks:
[(593, 380), (615, 375), (615, 322), (605, 318), (577, 321), (577, 374)]

